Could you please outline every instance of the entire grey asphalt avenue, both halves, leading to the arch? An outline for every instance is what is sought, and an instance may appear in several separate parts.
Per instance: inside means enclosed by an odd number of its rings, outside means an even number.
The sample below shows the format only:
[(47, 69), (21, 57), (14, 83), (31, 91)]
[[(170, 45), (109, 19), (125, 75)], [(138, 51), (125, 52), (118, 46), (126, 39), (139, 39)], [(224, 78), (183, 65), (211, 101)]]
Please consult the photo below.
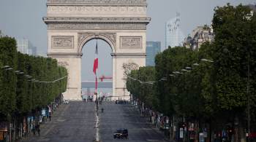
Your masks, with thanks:
[[(95, 104), (70, 102), (61, 105), (53, 114), (52, 121), (41, 125), (41, 135), (31, 135), (24, 142), (92, 142), (95, 139)], [(165, 141), (157, 129), (151, 128), (132, 106), (114, 103), (99, 105), (99, 138), (101, 142), (114, 141)], [(117, 128), (127, 128), (129, 139), (113, 139)]]

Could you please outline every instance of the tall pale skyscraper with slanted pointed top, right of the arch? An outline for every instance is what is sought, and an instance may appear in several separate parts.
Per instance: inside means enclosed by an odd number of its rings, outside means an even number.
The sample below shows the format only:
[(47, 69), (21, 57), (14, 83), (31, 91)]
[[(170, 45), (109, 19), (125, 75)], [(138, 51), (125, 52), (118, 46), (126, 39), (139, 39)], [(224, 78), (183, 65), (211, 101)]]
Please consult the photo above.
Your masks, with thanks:
[(165, 25), (165, 48), (167, 47), (177, 47), (182, 46), (184, 41), (184, 34), (180, 29), (181, 19), (179, 13), (176, 14), (176, 17), (167, 21)]

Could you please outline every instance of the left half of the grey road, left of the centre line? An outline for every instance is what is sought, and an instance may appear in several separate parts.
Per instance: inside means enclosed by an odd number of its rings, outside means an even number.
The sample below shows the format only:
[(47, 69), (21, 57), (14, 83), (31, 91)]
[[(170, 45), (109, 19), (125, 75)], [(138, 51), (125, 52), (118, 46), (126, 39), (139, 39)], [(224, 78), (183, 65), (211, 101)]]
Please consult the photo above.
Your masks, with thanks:
[(52, 121), (40, 126), (41, 133), (29, 135), (23, 142), (84, 142), (93, 141), (95, 130), (94, 103), (70, 101), (53, 112)]

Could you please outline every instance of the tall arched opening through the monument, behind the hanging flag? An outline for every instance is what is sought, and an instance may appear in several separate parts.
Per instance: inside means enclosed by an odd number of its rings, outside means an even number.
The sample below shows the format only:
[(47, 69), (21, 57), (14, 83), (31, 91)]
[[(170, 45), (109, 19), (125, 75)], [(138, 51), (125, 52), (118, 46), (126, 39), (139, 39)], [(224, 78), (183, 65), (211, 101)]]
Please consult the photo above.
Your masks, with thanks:
[[(93, 72), (94, 59), (98, 58), (99, 67), (97, 70), (98, 81), (98, 97), (103, 97), (106, 100), (110, 100), (113, 91), (113, 62), (112, 56), (113, 47), (109, 44), (109, 41), (102, 38), (89, 38), (81, 44), (83, 47), (79, 52), (83, 53), (81, 58), (81, 87), (82, 87), (82, 99), (94, 100), (95, 92), (95, 74)], [(96, 46), (98, 48), (98, 54), (95, 54)], [(110, 85), (111, 84), (111, 85)]]

